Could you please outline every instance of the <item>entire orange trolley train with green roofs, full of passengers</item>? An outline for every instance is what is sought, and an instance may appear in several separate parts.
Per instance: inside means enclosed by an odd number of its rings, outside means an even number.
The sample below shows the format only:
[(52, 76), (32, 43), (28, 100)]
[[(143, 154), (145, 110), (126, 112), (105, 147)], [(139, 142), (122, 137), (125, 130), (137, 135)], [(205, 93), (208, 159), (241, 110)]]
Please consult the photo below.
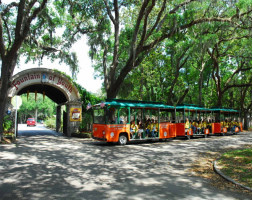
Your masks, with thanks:
[(93, 139), (125, 145), (135, 140), (207, 137), (242, 131), (239, 112), (192, 104), (107, 99), (92, 106)]

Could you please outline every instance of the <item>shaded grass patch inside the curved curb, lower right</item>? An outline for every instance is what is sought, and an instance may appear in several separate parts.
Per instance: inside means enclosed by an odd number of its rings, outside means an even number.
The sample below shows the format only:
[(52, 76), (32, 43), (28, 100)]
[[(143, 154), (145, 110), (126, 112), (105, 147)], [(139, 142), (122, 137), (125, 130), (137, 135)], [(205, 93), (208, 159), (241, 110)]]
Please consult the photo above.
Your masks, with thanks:
[(233, 180), (252, 187), (252, 149), (233, 150), (224, 153), (218, 161), (220, 170)]

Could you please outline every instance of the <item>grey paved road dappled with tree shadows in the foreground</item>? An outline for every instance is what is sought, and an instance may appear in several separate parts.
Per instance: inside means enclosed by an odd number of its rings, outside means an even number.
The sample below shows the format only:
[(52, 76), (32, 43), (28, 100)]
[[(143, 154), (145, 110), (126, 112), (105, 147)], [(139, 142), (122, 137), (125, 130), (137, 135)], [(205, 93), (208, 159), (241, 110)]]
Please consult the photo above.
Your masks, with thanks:
[(251, 199), (189, 168), (200, 152), (251, 144), (251, 133), (107, 145), (56, 135), (0, 146), (0, 199)]

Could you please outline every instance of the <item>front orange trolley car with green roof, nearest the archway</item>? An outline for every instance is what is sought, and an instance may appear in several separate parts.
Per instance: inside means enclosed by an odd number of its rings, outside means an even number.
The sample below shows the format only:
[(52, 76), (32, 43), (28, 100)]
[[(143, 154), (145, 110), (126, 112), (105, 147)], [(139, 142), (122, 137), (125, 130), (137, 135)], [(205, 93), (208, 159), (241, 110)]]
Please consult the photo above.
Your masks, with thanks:
[(125, 145), (176, 137), (175, 108), (158, 102), (107, 99), (93, 106), (93, 139)]

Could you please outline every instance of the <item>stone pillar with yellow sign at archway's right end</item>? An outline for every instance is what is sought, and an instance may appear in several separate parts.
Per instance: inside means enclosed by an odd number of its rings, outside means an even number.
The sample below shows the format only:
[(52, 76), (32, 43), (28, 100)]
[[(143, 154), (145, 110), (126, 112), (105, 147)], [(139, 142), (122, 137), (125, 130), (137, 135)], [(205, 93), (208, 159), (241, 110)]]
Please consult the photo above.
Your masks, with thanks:
[[(79, 131), (79, 126), (82, 119), (82, 103), (81, 102), (69, 102), (66, 105), (67, 110), (67, 136), (71, 137), (72, 133)], [(80, 112), (80, 113), (79, 113)], [(75, 118), (79, 116), (80, 118)]]

